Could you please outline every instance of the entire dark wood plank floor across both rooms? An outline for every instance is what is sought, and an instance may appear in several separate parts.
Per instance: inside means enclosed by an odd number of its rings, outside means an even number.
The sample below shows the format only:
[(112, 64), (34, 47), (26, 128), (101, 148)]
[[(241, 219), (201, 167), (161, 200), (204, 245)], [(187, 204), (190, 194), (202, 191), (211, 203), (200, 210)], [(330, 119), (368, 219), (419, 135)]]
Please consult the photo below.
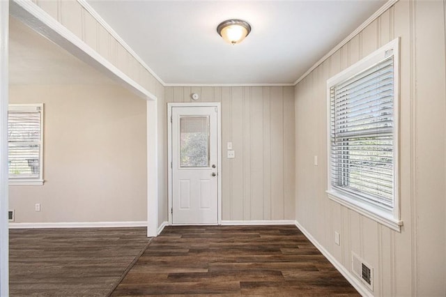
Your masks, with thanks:
[(10, 296), (359, 296), (295, 226), (166, 227), (148, 241), (145, 228), (11, 230)]

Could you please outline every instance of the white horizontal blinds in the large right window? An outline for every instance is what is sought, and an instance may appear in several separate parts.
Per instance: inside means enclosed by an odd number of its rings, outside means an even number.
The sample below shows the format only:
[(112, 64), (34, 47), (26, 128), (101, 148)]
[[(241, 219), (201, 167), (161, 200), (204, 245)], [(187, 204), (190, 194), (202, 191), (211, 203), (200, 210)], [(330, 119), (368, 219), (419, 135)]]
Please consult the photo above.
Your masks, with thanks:
[(334, 188), (393, 207), (393, 56), (330, 88)]

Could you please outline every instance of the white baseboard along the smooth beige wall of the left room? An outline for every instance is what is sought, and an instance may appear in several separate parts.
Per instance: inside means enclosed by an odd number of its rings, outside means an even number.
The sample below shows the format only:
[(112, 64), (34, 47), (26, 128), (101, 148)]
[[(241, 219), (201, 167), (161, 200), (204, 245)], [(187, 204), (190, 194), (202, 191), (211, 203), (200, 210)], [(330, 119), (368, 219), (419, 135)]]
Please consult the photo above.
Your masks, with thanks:
[(112, 228), (112, 227), (147, 227), (146, 221), (136, 222), (28, 222), (9, 223), (9, 229), (34, 228)]

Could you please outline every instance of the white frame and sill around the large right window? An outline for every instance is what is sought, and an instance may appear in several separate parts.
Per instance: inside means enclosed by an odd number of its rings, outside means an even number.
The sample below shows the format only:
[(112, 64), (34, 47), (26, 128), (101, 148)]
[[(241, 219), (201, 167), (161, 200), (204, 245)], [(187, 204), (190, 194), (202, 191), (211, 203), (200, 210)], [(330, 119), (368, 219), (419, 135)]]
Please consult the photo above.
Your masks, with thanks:
[[(362, 71), (376, 65), (380, 61), (386, 59), (390, 53), (394, 56), (394, 131), (393, 131), (393, 178), (394, 178), (394, 195), (393, 208), (381, 207), (373, 204), (359, 195), (354, 195), (350, 192), (344, 192), (332, 187), (332, 162), (331, 162), (331, 145), (330, 145), (330, 88), (341, 82), (346, 82), (351, 77), (362, 73)], [(361, 61), (353, 64), (341, 73), (334, 75), (327, 81), (327, 114), (328, 114), (328, 190), (326, 191), (328, 197), (339, 204), (351, 208), (357, 213), (360, 213), (367, 218), (371, 218), (380, 224), (383, 224), (396, 231), (401, 231), (403, 222), (400, 220), (400, 205), (399, 205), (399, 38), (392, 40), (387, 45), (380, 47), (369, 56), (366, 56)]]

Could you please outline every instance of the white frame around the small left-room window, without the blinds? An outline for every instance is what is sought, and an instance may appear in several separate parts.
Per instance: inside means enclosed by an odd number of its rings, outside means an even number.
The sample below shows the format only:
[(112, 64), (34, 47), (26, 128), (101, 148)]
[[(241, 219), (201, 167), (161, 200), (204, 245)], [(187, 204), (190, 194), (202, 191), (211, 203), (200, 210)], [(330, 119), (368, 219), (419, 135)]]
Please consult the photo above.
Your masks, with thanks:
[(9, 185), (43, 185), (43, 103), (10, 104), (9, 112), (40, 112), (39, 175), (37, 177), (9, 177)]

